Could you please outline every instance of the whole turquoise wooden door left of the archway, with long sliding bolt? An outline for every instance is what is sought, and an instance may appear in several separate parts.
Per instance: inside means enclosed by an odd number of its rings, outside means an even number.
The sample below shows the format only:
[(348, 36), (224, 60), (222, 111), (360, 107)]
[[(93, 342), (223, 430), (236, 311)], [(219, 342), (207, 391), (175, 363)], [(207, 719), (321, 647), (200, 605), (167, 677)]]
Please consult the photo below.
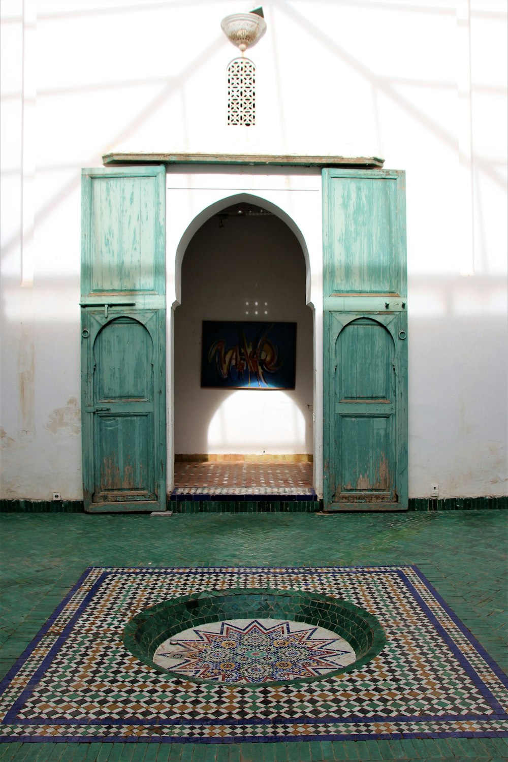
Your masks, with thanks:
[(165, 169), (84, 170), (81, 271), (87, 511), (162, 511)]

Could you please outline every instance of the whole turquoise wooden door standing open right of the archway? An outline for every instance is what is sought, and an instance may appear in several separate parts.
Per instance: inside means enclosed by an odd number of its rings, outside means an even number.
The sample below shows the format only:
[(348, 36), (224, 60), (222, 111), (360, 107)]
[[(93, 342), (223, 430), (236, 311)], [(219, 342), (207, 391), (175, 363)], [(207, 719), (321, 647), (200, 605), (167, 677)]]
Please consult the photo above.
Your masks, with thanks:
[(324, 171), (324, 506), (407, 509), (404, 173)]

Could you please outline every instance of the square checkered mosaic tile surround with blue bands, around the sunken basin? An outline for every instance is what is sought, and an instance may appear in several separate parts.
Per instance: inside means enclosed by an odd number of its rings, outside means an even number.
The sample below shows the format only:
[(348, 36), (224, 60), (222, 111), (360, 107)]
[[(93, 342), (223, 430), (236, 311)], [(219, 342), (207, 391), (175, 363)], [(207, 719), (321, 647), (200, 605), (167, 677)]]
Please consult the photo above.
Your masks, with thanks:
[[(123, 644), (146, 607), (264, 588), (348, 600), (385, 630), (359, 668), (290, 684), (174, 677)], [(89, 568), (0, 685), (3, 741), (340, 741), (508, 735), (508, 680), (414, 566)]]

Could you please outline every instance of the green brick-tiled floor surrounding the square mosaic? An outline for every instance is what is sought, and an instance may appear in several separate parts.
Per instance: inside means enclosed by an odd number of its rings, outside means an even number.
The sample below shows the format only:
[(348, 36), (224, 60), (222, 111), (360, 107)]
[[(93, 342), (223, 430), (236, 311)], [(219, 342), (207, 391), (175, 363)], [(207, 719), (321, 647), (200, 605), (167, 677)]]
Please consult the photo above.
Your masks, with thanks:
[[(417, 564), (487, 652), (508, 669), (506, 511), (412, 514), (4, 514), (2, 674), (88, 565)], [(503, 640), (504, 639), (504, 640)], [(2, 744), (30, 760), (506, 760), (505, 738), (288, 744)]]

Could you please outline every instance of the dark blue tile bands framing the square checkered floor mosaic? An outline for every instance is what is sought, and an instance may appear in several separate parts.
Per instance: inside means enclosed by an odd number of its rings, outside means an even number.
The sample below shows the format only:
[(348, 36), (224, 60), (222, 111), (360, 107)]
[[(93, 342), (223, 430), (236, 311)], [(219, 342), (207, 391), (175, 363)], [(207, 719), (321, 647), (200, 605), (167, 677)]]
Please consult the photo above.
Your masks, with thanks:
[[(452, 638), (449, 636), (449, 634), (446, 632), (446, 629), (443, 627), (441, 623), (439, 623), (439, 620), (436, 619), (436, 616), (434, 616), (433, 612), (430, 610), (430, 607), (427, 605), (425, 600), (423, 600), (423, 597), (420, 595), (420, 593), (417, 591), (416, 588), (414, 588), (414, 584), (411, 582), (409, 578), (407, 578), (407, 574), (404, 570), (411, 569), (411, 571), (414, 572), (415, 575), (417, 575), (417, 578), (420, 579), (422, 582), (424, 588), (430, 593), (430, 595), (433, 597), (434, 600), (436, 600), (436, 603), (439, 604), (439, 606), (443, 609), (443, 612), (446, 613), (447, 616), (449, 616), (449, 619), (452, 621), (452, 623), (455, 624), (455, 626), (462, 632), (462, 636), (467, 639), (467, 641), (470, 643), (470, 645), (473, 646), (474, 650), (478, 653), (478, 655), (481, 656), (481, 658), (484, 660), (484, 662), (488, 665), (488, 667), (491, 669), (491, 671), (496, 675), (496, 677), (500, 680), (500, 683), (503, 684), (504, 687), (508, 688), (508, 677), (503, 673), (503, 671), (499, 668), (497, 663), (494, 661), (493, 658), (490, 657), (490, 655), (485, 651), (485, 649), (481, 646), (481, 644), (478, 642), (477, 639), (474, 638), (474, 636), (471, 634), (471, 632), (468, 631), (468, 629), (465, 627), (464, 623), (462, 623), (462, 620), (458, 618), (458, 616), (455, 615), (451, 607), (449, 607), (448, 604), (446, 604), (446, 601), (439, 595), (439, 593), (436, 591), (435, 588), (433, 588), (433, 585), (430, 584), (430, 581), (427, 580), (427, 578), (423, 575), (423, 573), (420, 571), (420, 569), (416, 565), (372, 565), (369, 567), (364, 566), (349, 566), (349, 567), (340, 567), (340, 568), (328, 568), (328, 567), (320, 567), (320, 568), (314, 568), (314, 567), (305, 567), (305, 568), (299, 568), (299, 567), (289, 567), (289, 568), (269, 568), (264, 566), (252, 566), (252, 567), (246, 567), (246, 568), (238, 568), (238, 567), (196, 567), (196, 568), (182, 568), (182, 567), (166, 567), (166, 568), (139, 568), (139, 567), (132, 567), (132, 568), (116, 568), (116, 567), (88, 567), (84, 573), (81, 575), (81, 577), (78, 579), (78, 581), (75, 583), (75, 585), (72, 587), (71, 591), (67, 595), (65, 595), (62, 602), (59, 604), (58, 607), (56, 607), (56, 610), (53, 612), (53, 614), (50, 616), (50, 618), (46, 621), (44, 626), (40, 629), (40, 632), (37, 633), (37, 636), (34, 638), (32, 642), (30, 642), (30, 645), (25, 648), (23, 654), (18, 658), (18, 661), (14, 666), (11, 668), (10, 671), (8, 671), (8, 674), (5, 676), (5, 678), (0, 683), (0, 694), (4, 692), (4, 690), (10, 685), (11, 680), (13, 677), (15, 677), (16, 674), (18, 674), (18, 671), (23, 667), (25, 662), (28, 658), (30, 658), (30, 655), (34, 652), (34, 649), (37, 648), (37, 645), (39, 645), (40, 641), (43, 639), (43, 637), (46, 635), (50, 627), (53, 625), (53, 623), (57, 620), (58, 616), (62, 611), (65, 609), (67, 604), (72, 600), (72, 598), (75, 596), (75, 594), (80, 590), (82, 584), (87, 580), (88, 576), (94, 572), (101, 570), (101, 574), (97, 577), (97, 579), (94, 581), (94, 583), (91, 586), (91, 589), (88, 591), (88, 593), (85, 595), (83, 600), (81, 600), (81, 604), (79, 604), (78, 608), (75, 610), (75, 613), (73, 613), (72, 617), (69, 619), (69, 622), (65, 626), (65, 628), (60, 633), (59, 637), (56, 639), (56, 642), (53, 644), (52, 648), (50, 648), (50, 651), (48, 654), (43, 658), (43, 661), (39, 665), (36, 671), (34, 671), (34, 674), (32, 676), (32, 679), (30, 680), (30, 686), (27, 687), (18, 697), (18, 700), (16, 700), (11, 706), (11, 709), (7, 712), (5, 719), (2, 723), (0, 723), (0, 726), (2, 724), (24, 724), (24, 725), (41, 725), (43, 722), (46, 722), (46, 724), (50, 723), (57, 723), (59, 725), (66, 725), (66, 726), (72, 726), (72, 725), (132, 725), (136, 724), (138, 726), (146, 726), (148, 727), (171, 727), (172, 725), (186, 725), (187, 727), (206, 727), (211, 725), (223, 725), (234, 728), (238, 725), (244, 725), (244, 726), (263, 726), (263, 725), (272, 725), (273, 719), (265, 719), (265, 718), (240, 718), (240, 719), (200, 719), (200, 720), (187, 720), (184, 718), (175, 718), (175, 719), (142, 719), (138, 717), (122, 717), (120, 719), (115, 719), (112, 717), (106, 717), (101, 719), (61, 719), (61, 718), (51, 718), (50, 721), (47, 719), (40, 719), (40, 718), (32, 718), (32, 719), (26, 719), (22, 722), (17, 722), (16, 717), (18, 710), (21, 709), (22, 706), (27, 701), (27, 698), (32, 693), (32, 690), (35, 687), (35, 684), (37, 684), (38, 679), (44, 674), (46, 671), (46, 668), (51, 664), (53, 661), (54, 656), (56, 653), (59, 652), (59, 648), (62, 646), (62, 644), (65, 642), (65, 639), (69, 635), (69, 632), (71, 632), (72, 627), (75, 625), (75, 623), (78, 621), (79, 616), (81, 616), (82, 613), (86, 610), (88, 607), (88, 604), (94, 597), (94, 595), (97, 593), (97, 591), (101, 588), (101, 584), (107, 579), (109, 575), (118, 574), (119, 572), (123, 575), (133, 575), (133, 576), (139, 576), (139, 575), (167, 575), (168, 573), (177, 573), (179, 576), (182, 575), (188, 575), (189, 577), (196, 576), (196, 575), (203, 575), (203, 573), (209, 572), (210, 574), (220, 574), (220, 573), (242, 573), (242, 574), (259, 574), (260, 572), (270, 574), (271, 576), (278, 576), (278, 575), (287, 575), (291, 573), (295, 574), (304, 574), (308, 573), (312, 575), (313, 578), (324, 578), (327, 579), (333, 578), (334, 576), (343, 576), (344, 574), (350, 574), (351, 576), (357, 576), (357, 575), (383, 575), (387, 572), (393, 574), (395, 573), (398, 578), (400, 578), (404, 585), (406, 586), (407, 590), (410, 592), (420, 609), (423, 611), (425, 616), (427, 617), (427, 620), (429, 620), (433, 627), (436, 629), (437, 632), (439, 632), (439, 635), (443, 638), (444, 642), (446, 642), (447, 647), (452, 652), (452, 654), (455, 656), (458, 663), (462, 665), (462, 668), (464, 671), (469, 675), (471, 678), (471, 681), (474, 683), (475, 687), (478, 688), (481, 695), (484, 696), (484, 698), (487, 700), (487, 702), (490, 704), (490, 707), (494, 709), (494, 713), (490, 714), (471, 714), (471, 715), (446, 715), (446, 716), (433, 716), (433, 715), (420, 715), (420, 716), (348, 716), (347, 718), (340, 718), (340, 717), (308, 717), (308, 716), (302, 716), (299, 718), (291, 718), (287, 719), (288, 725), (298, 725), (298, 724), (315, 724), (315, 725), (326, 725), (326, 724), (333, 724), (333, 725), (354, 725), (354, 724), (366, 724), (366, 722), (433, 722), (433, 723), (440, 723), (440, 722), (467, 722), (468, 720), (471, 721), (480, 721), (480, 720), (486, 720), (486, 721), (492, 721), (492, 720), (500, 720), (500, 721), (506, 721), (508, 720), (508, 713), (503, 711), (502, 706), (500, 706), (500, 703), (497, 701), (495, 696), (490, 692), (486, 684), (483, 680), (481, 680), (481, 677), (479, 676), (478, 672), (471, 666), (468, 659), (465, 657), (465, 655), (461, 652), (460, 648), (458, 648), (457, 645), (455, 645), (455, 642), (453, 642)], [(283, 720), (278, 722), (280, 725), (284, 725), (285, 723)], [(204, 737), (184, 737), (184, 736), (161, 736), (161, 735), (153, 735), (153, 736), (135, 736), (135, 737), (129, 737), (129, 736), (117, 736), (117, 735), (87, 735), (87, 736), (44, 736), (44, 735), (0, 735), (0, 741), (18, 741), (18, 742), (50, 742), (50, 743), (69, 743), (69, 742), (80, 742), (80, 743), (91, 743), (95, 741), (100, 742), (107, 742), (107, 743), (135, 743), (137, 741), (142, 742), (156, 742), (156, 743), (206, 743), (206, 744), (231, 744), (231, 743), (241, 743), (241, 742), (273, 742), (273, 741), (283, 741), (283, 742), (289, 742), (289, 741), (359, 741), (359, 740), (369, 740), (369, 738), (376, 738), (376, 739), (395, 739), (395, 738), (494, 738), (494, 737), (507, 737), (508, 736), (508, 724), (506, 724), (506, 729), (500, 729), (497, 731), (460, 731), (455, 732), (451, 730), (441, 730), (441, 731), (427, 731), (427, 730), (420, 730), (417, 732), (391, 732), (391, 733), (378, 733), (373, 735), (372, 732), (367, 733), (357, 733), (357, 734), (326, 734), (326, 735), (306, 735), (304, 738), (302, 736), (290, 736), (290, 735), (270, 735), (270, 736), (264, 736), (264, 737), (252, 737), (250, 735), (244, 735), (244, 736), (234, 736), (234, 737), (228, 737), (228, 738), (204, 738)]]

